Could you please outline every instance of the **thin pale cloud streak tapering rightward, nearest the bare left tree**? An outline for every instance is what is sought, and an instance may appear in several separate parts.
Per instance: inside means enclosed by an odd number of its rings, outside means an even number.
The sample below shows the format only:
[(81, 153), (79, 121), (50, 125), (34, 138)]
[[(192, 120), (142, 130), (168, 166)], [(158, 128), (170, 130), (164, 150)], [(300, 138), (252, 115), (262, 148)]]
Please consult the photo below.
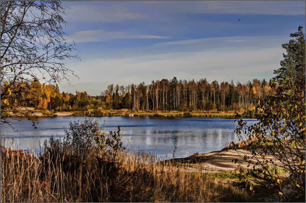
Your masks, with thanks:
[(72, 36), (68, 36), (69, 41), (74, 42), (98, 42), (107, 41), (109, 39), (170, 39), (170, 36), (156, 36), (156, 35), (133, 35), (127, 32), (106, 32), (100, 30), (86, 30), (75, 32)]

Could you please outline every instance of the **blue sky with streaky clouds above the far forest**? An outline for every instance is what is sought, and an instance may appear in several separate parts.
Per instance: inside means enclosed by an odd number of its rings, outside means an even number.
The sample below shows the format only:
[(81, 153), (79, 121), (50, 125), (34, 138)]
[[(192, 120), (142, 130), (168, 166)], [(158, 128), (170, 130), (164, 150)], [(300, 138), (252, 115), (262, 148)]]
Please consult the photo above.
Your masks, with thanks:
[[(303, 26), (305, 1), (64, 1), (81, 61), (60, 91), (100, 95), (110, 84), (206, 78), (269, 81), (290, 33)], [(239, 21), (240, 19), (240, 21)]]

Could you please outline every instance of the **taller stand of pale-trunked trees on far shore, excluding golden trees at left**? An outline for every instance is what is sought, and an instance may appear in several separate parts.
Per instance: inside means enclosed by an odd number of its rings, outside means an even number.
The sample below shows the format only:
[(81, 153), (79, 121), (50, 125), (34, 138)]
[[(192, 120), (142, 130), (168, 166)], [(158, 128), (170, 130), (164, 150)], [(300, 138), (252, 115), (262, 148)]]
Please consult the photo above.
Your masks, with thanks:
[(133, 111), (231, 111), (254, 107), (257, 99), (275, 94), (278, 83), (253, 79), (245, 84), (213, 81), (162, 79), (145, 85), (109, 85), (101, 92), (108, 108)]

